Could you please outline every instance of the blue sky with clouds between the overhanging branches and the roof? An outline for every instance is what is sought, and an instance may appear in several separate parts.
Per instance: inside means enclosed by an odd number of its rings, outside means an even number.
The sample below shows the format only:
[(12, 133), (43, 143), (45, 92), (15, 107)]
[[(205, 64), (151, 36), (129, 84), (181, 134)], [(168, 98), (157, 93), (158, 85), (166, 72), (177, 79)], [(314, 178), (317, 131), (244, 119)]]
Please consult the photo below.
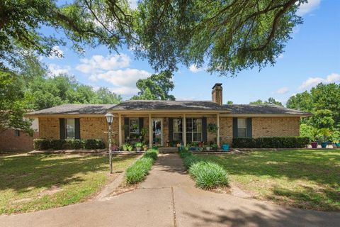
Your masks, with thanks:
[[(304, 19), (295, 28), (283, 55), (276, 65), (245, 70), (237, 77), (218, 77), (216, 74), (179, 66), (174, 72), (175, 89), (171, 94), (181, 100), (210, 100), (211, 88), (223, 84), (223, 101), (248, 104), (257, 99), (273, 97), (285, 101), (293, 94), (303, 92), (319, 82), (340, 82), (340, 1), (310, 0), (301, 6)], [(47, 31), (46, 31), (47, 32)], [(44, 57), (42, 62), (52, 74), (67, 72), (82, 84), (95, 88), (108, 87), (123, 99), (137, 93), (135, 82), (154, 73), (147, 61), (135, 60), (133, 52), (123, 48), (120, 54), (109, 53), (101, 46), (88, 48), (77, 55), (68, 46), (55, 47), (64, 57)]]

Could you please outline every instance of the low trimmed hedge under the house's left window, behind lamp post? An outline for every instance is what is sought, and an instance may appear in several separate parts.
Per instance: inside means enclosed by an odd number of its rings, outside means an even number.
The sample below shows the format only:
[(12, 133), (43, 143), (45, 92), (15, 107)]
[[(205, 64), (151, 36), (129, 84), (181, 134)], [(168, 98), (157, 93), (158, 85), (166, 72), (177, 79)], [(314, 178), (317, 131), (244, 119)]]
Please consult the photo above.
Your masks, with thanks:
[(62, 150), (62, 149), (104, 149), (103, 140), (86, 139), (86, 140), (47, 140), (35, 139), (35, 150)]

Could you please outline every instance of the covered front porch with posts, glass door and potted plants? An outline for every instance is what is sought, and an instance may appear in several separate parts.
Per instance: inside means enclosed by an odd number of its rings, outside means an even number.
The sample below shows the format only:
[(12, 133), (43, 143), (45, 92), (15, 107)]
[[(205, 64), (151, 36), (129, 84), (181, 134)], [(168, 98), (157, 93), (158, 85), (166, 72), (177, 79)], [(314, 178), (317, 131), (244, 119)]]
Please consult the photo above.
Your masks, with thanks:
[[(220, 114), (198, 113), (113, 113), (118, 120), (118, 144), (144, 142), (152, 147), (187, 145), (193, 142), (217, 143), (220, 145)], [(208, 124), (217, 126), (216, 133), (208, 131)], [(232, 126), (230, 125), (229, 128)], [(115, 126), (113, 126), (114, 130)], [(115, 130), (114, 130), (115, 131)], [(230, 134), (231, 129), (229, 130)], [(229, 135), (232, 138), (232, 135)]]

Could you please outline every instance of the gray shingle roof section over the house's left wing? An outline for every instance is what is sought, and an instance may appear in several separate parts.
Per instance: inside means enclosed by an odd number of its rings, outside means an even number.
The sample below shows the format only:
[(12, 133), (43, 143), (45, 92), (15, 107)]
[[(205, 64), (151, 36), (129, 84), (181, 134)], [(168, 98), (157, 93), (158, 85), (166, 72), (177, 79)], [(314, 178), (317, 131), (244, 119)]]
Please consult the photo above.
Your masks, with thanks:
[(115, 104), (64, 104), (40, 111), (34, 111), (28, 115), (38, 114), (106, 114), (108, 109)]

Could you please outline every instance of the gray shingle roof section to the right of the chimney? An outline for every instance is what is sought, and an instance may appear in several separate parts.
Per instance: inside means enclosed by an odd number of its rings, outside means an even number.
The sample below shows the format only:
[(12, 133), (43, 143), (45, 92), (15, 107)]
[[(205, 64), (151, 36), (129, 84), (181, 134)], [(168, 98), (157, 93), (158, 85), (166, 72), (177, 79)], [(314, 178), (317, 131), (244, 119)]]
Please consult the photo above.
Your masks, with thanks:
[(230, 111), (230, 114), (289, 114), (289, 115), (305, 115), (309, 116), (310, 113), (298, 111), (296, 109), (289, 109), (277, 105), (245, 105), (233, 104), (223, 105)]

